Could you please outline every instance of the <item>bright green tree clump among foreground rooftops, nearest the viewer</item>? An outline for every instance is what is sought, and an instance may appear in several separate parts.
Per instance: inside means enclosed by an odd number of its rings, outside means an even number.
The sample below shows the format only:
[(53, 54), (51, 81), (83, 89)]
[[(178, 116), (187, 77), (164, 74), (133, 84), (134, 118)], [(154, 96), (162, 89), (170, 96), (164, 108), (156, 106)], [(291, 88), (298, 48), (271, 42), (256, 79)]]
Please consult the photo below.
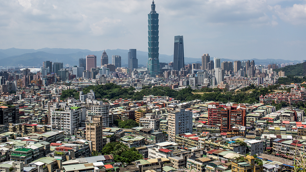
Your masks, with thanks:
[(103, 155), (113, 155), (114, 162), (131, 163), (133, 161), (143, 159), (136, 148), (129, 148), (120, 142), (111, 142), (106, 144), (102, 149)]

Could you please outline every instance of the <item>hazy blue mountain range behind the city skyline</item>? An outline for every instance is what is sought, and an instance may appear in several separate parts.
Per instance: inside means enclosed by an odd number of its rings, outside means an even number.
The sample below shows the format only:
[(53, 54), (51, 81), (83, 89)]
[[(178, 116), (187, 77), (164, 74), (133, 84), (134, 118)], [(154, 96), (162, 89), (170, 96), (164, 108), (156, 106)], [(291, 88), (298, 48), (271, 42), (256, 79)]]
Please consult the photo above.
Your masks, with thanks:
[[(108, 63), (111, 63), (112, 55), (121, 56), (122, 67), (127, 67), (128, 63), (128, 52), (129, 50), (105, 50), (108, 55)], [(65, 48), (42, 48), (42, 49), (18, 49), (18, 48), (9, 48), (9, 49), (0, 49), (0, 66), (37, 66), (43, 64), (44, 61), (51, 62), (63, 62), (64, 65), (69, 64), (70, 66), (78, 65), (79, 58), (86, 58), (86, 55), (94, 54), (97, 56), (97, 66), (100, 66), (100, 57), (103, 53), (102, 51), (91, 51), (83, 49), (65, 49)], [(137, 59), (139, 66), (145, 66), (147, 64), (148, 52), (137, 51)], [(213, 57), (211, 57), (213, 60)], [(226, 59), (221, 58), (223, 61), (235, 61), (236, 59)], [(300, 63), (300, 61), (294, 60), (283, 60), (283, 59), (244, 59), (246, 60), (255, 60), (256, 65), (267, 65), (271, 62), (280, 64), (280, 63)], [(173, 55), (159, 54), (159, 62), (169, 63), (173, 61)], [(201, 58), (188, 58), (185, 57), (185, 63), (201, 63)]]

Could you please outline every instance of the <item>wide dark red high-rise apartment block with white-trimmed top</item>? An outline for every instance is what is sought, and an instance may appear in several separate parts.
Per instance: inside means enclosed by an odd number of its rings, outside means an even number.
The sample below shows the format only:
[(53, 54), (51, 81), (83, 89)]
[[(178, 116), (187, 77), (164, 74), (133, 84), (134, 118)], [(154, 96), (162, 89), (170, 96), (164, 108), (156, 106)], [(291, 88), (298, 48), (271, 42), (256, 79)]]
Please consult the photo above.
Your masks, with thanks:
[(220, 132), (228, 132), (236, 125), (246, 126), (246, 107), (230, 103), (209, 104), (208, 125), (219, 126)]

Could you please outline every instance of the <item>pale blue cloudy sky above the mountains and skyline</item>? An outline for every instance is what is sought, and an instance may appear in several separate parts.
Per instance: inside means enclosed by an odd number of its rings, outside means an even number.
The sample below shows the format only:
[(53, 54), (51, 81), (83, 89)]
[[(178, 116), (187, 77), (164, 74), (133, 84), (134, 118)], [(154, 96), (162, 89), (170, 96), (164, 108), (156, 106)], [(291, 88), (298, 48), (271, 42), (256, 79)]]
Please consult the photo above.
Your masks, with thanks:
[[(151, 0), (2, 0), (0, 49), (147, 51)], [(306, 59), (306, 0), (155, 0), (159, 53)]]

